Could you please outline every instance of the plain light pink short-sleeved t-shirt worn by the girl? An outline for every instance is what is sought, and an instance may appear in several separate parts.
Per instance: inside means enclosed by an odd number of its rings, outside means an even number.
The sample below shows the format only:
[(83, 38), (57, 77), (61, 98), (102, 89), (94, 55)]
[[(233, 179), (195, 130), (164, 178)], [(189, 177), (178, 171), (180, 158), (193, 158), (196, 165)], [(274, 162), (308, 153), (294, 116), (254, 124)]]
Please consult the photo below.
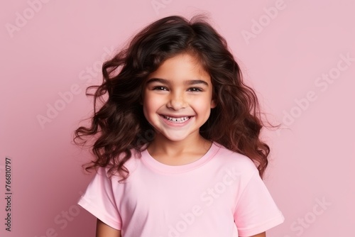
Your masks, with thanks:
[(253, 162), (217, 143), (187, 165), (143, 150), (125, 166), (123, 183), (99, 168), (78, 202), (123, 237), (253, 236), (284, 221)]

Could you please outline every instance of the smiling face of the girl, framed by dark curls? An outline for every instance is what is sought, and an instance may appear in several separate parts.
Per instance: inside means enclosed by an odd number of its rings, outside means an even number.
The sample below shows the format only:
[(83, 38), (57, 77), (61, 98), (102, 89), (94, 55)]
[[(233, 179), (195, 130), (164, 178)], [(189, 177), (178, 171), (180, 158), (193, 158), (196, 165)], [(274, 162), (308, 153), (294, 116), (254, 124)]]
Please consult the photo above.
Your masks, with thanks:
[(143, 112), (156, 136), (200, 138), (200, 127), (215, 106), (209, 74), (187, 53), (165, 60), (146, 79)]

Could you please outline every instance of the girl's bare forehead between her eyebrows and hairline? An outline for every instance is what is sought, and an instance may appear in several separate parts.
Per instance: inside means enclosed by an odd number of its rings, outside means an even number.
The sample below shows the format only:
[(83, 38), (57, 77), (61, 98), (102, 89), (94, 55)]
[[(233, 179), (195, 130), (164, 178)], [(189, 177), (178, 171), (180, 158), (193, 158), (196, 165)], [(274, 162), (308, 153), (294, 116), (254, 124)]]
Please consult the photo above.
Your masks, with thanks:
[(149, 78), (163, 78), (169, 80), (204, 79), (211, 82), (209, 73), (204, 70), (200, 60), (189, 53), (181, 53), (165, 60)]

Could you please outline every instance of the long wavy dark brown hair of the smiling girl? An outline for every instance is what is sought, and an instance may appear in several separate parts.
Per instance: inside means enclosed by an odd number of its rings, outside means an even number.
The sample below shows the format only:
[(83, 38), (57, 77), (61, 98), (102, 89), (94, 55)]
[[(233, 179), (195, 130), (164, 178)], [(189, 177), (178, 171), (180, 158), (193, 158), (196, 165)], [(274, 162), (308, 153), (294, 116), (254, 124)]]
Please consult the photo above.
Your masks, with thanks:
[[(77, 145), (87, 142), (84, 137), (94, 138), (91, 148), (95, 160), (85, 166), (87, 170), (109, 167), (109, 175), (118, 172), (126, 180), (129, 170), (125, 162), (132, 152), (139, 154), (154, 138), (141, 105), (145, 79), (164, 60), (180, 53), (197, 56), (212, 80), (217, 106), (200, 128), (200, 134), (248, 156), (263, 177), (270, 148), (259, 138), (265, 123), (256, 93), (244, 83), (226, 40), (202, 16), (190, 21), (181, 16), (161, 18), (143, 28), (123, 50), (104, 62), (102, 84), (87, 88), (87, 95), (94, 97), (91, 124), (80, 126), (74, 134)], [(94, 93), (90, 94), (89, 89), (95, 89)]]

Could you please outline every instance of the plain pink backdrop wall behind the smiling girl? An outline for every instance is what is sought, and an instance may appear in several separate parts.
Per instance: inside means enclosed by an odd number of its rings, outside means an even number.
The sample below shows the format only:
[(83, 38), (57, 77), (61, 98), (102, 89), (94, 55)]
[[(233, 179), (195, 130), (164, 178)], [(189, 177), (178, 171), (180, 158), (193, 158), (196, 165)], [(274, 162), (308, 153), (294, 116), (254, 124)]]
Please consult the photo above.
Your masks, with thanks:
[(0, 9), (1, 236), (94, 236), (94, 217), (76, 204), (92, 178), (81, 170), (90, 155), (71, 142), (92, 110), (84, 89), (101, 82), (102, 59), (147, 23), (201, 12), (226, 38), (270, 121), (287, 128), (263, 133), (272, 148), (265, 181), (285, 216), (268, 236), (354, 232), (354, 1), (22, 0)]

